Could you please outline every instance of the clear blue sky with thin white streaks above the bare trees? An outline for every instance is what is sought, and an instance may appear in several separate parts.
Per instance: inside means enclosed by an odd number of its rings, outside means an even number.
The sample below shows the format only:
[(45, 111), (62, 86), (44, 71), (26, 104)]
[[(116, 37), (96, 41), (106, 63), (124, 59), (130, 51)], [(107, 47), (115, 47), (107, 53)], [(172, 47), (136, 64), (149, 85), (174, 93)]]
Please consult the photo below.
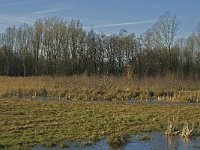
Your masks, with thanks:
[(84, 28), (118, 33), (126, 29), (139, 36), (166, 11), (180, 19), (178, 36), (194, 32), (200, 22), (200, 0), (0, 0), (0, 32), (8, 26), (32, 24), (58, 16), (79, 19)]

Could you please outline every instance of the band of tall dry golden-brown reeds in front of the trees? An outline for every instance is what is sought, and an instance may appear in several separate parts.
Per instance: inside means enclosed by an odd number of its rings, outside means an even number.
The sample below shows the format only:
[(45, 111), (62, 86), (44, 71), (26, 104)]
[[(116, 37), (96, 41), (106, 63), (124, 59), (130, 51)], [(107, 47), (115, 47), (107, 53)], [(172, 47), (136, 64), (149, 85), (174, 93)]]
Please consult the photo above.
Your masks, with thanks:
[(0, 97), (59, 97), (66, 100), (200, 101), (200, 81), (174, 76), (128, 80), (123, 77), (0, 77)]

